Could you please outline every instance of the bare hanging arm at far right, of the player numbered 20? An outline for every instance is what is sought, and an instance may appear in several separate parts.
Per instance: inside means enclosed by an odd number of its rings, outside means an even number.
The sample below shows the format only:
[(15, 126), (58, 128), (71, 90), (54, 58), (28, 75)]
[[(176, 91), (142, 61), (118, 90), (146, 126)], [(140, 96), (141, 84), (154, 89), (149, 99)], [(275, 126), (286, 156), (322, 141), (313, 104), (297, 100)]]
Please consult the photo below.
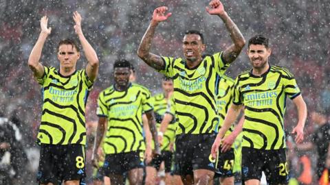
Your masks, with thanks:
[(307, 106), (301, 95), (294, 98), (294, 105), (298, 111), (298, 123), (294, 130), (292, 130), (292, 134), (296, 134), (295, 141), (296, 143), (302, 143), (304, 140), (304, 127), (307, 118)]

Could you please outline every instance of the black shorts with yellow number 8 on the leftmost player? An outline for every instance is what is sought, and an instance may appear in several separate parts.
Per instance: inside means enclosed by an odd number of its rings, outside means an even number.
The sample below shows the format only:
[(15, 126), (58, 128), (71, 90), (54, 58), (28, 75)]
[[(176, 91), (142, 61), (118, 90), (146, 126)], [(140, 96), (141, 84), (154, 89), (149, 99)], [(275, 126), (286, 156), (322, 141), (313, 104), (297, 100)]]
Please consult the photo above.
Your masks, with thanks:
[(37, 182), (47, 184), (86, 177), (84, 145), (44, 145), (40, 146)]

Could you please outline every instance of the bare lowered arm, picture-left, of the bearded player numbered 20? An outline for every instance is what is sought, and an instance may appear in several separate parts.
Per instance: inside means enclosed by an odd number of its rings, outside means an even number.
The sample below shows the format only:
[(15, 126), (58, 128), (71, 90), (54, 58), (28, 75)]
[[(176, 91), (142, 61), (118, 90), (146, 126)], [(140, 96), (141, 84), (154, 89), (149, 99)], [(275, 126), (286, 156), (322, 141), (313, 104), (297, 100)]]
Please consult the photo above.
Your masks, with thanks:
[(221, 139), (223, 138), (223, 136), (225, 136), (225, 132), (229, 130), (230, 125), (234, 123), (237, 116), (239, 116), (240, 110), (241, 110), (241, 106), (236, 106), (234, 103), (232, 103), (232, 106), (230, 106), (230, 109), (225, 115), (225, 120), (223, 121), (222, 127), (219, 130), (219, 133), (217, 134), (217, 138), (215, 138), (214, 143), (212, 145), (212, 149), (211, 149), (212, 158), (215, 159), (217, 157), (217, 152), (221, 145)]

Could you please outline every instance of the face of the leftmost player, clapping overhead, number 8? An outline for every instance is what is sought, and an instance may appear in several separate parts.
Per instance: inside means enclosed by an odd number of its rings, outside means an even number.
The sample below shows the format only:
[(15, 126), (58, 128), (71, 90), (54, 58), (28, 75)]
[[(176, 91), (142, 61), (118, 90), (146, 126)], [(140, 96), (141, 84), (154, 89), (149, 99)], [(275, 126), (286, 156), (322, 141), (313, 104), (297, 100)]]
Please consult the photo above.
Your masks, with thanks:
[(80, 58), (80, 53), (73, 45), (60, 45), (58, 47), (57, 58), (61, 68), (76, 69), (76, 63)]

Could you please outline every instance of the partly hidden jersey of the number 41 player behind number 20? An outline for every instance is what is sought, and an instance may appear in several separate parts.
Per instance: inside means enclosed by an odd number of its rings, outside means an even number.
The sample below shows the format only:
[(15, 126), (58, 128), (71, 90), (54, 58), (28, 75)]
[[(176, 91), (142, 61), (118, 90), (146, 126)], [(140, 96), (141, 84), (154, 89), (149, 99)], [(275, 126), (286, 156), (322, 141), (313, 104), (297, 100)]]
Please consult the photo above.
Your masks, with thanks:
[[(223, 125), (223, 121), (225, 120), (225, 115), (232, 105), (232, 92), (234, 89), (234, 79), (226, 76), (221, 75), (219, 83), (217, 84), (217, 106), (218, 106), (218, 114), (219, 114), (219, 129)], [(225, 136), (228, 136), (232, 133), (234, 126), (232, 125), (230, 129), (225, 132)]]

